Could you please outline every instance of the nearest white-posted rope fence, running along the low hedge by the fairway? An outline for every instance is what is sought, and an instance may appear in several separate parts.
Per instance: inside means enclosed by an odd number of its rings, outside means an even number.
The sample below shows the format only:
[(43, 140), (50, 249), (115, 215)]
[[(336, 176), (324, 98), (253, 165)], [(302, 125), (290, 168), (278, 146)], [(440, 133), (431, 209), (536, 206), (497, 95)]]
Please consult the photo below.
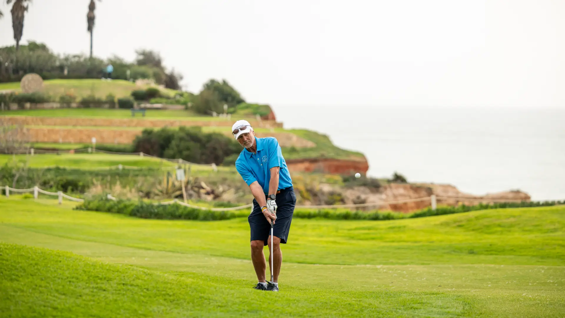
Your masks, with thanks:
[[(63, 198), (75, 202), (84, 202), (84, 199), (80, 199), (78, 197), (72, 197), (67, 194), (64, 194), (62, 191), (58, 192), (49, 192), (40, 189), (39, 187), (35, 186), (29, 189), (16, 189), (11, 188), (9, 186), (0, 186), (0, 190), (4, 190), (6, 197), (10, 197), (10, 192), (18, 192), (18, 193), (27, 193), (33, 192), (34, 199), (37, 199), (38, 194), (45, 194), (50, 196), (58, 196), (59, 204), (63, 203)], [(108, 194), (108, 200), (117, 201), (118, 198)], [(297, 205), (295, 208), (298, 209), (340, 209), (340, 208), (365, 208), (365, 207), (378, 207), (383, 205), (391, 205), (391, 204), (402, 204), (402, 203), (411, 203), (411, 202), (419, 202), (419, 201), (431, 201), (431, 208), (435, 210), (437, 208), (437, 200), (457, 200), (457, 201), (483, 201), (483, 202), (522, 202), (522, 201), (530, 201), (530, 200), (520, 200), (520, 199), (490, 199), (490, 198), (476, 198), (476, 197), (450, 197), (450, 196), (425, 196), (419, 197), (416, 199), (406, 199), (406, 200), (397, 200), (397, 201), (384, 201), (384, 202), (373, 202), (373, 203), (361, 203), (361, 204), (338, 204), (338, 205)], [(242, 210), (242, 209), (249, 209), (253, 208), (253, 204), (246, 204), (240, 205), (239, 207), (232, 207), (232, 208), (208, 208), (208, 207), (199, 207), (198, 205), (193, 205), (189, 203), (182, 202), (178, 199), (173, 199), (171, 201), (165, 202), (155, 202), (154, 205), (168, 205), (168, 204), (180, 204), (184, 205), (185, 207), (194, 208), (194, 209), (201, 209), (201, 210), (211, 210), (211, 211), (235, 211), (235, 210)]]

